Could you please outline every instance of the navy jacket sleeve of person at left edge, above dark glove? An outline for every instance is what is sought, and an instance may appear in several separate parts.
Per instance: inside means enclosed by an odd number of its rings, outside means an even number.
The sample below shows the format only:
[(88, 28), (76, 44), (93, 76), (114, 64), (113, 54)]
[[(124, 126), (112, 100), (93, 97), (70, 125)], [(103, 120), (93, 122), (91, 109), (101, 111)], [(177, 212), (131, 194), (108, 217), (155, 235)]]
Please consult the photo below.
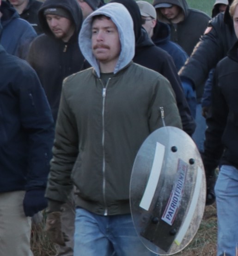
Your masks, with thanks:
[(23, 65), (18, 87), (20, 122), (28, 141), (26, 190), (45, 187), (54, 139), (54, 121), (36, 72)]

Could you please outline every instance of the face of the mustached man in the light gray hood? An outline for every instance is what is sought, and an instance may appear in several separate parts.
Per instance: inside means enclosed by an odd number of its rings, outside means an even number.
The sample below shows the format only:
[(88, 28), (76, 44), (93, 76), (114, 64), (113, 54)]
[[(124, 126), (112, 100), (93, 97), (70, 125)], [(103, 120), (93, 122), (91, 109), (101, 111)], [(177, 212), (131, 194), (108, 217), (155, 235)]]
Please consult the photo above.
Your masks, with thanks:
[(92, 23), (92, 53), (99, 62), (115, 65), (121, 51), (116, 25), (111, 19), (95, 19)]

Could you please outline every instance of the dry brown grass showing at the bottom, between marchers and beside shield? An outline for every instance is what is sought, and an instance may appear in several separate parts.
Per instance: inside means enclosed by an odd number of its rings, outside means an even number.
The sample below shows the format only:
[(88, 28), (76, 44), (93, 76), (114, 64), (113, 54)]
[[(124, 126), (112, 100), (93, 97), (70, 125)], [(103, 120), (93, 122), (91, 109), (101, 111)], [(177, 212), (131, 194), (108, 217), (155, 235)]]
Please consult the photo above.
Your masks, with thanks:
[[(45, 216), (44, 216), (45, 218)], [(43, 231), (43, 222), (32, 226), (34, 256), (55, 256), (55, 246)], [(206, 206), (200, 228), (191, 243), (175, 256), (215, 256), (217, 238), (216, 205)]]

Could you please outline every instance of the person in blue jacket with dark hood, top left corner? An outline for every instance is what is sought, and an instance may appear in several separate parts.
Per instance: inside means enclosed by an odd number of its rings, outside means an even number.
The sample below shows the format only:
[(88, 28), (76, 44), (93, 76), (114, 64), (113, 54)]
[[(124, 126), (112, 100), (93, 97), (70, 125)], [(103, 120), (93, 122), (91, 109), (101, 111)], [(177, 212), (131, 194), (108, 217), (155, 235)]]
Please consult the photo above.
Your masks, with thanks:
[(37, 33), (31, 24), (20, 19), (17, 11), (6, 1), (0, 0), (0, 22), (2, 32), (0, 44), (7, 53), (25, 59), (31, 41), (37, 37)]

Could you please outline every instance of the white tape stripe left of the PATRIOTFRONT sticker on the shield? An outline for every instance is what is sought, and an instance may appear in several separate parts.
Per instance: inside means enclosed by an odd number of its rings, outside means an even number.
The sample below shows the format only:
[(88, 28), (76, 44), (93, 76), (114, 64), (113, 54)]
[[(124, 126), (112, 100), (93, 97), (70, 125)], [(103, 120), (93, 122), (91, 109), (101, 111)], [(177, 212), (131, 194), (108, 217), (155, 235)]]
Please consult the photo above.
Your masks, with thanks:
[(140, 201), (140, 207), (149, 210), (161, 173), (163, 159), (165, 156), (165, 146), (156, 142), (153, 165), (148, 179), (144, 195)]

